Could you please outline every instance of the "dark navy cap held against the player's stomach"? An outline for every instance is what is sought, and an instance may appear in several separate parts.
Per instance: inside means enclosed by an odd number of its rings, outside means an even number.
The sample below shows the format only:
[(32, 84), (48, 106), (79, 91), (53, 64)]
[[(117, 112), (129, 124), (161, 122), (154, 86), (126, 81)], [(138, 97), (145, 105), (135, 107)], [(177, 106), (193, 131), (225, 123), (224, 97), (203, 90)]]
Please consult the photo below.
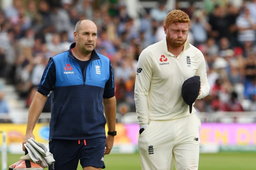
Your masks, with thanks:
[(185, 103), (189, 105), (189, 113), (192, 112), (192, 105), (196, 101), (200, 90), (200, 76), (193, 76), (184, 81), (181, 88), (181, 96)]

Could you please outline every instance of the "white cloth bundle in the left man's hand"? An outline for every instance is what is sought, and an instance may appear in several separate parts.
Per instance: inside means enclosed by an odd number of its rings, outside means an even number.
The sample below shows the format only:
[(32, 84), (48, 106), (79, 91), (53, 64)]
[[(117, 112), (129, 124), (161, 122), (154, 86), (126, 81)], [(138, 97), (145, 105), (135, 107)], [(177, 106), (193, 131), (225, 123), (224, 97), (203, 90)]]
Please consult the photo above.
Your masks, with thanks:
[(49, 152), (48, 148), (32, 137), (28, 139), (28, 142), (25, 143), (24, 146), (28, 150), (28, 154), (20, 157), (21, 160), (32, 160), (43, 168), (47, 168), (55, 162), (53, 155)]

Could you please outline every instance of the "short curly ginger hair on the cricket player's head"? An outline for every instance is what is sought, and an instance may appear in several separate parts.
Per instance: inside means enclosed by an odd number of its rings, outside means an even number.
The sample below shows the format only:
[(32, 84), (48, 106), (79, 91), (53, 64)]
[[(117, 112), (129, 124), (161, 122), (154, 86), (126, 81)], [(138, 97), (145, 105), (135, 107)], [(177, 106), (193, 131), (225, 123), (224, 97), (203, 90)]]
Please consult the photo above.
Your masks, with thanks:
[(165, 18), (165, 26), (169, 27), (171, 24), (176, 23), (188, 23), (190, 24), (190, 19), (188, 14), (181, 10), (173, 10), (169, 12)]

